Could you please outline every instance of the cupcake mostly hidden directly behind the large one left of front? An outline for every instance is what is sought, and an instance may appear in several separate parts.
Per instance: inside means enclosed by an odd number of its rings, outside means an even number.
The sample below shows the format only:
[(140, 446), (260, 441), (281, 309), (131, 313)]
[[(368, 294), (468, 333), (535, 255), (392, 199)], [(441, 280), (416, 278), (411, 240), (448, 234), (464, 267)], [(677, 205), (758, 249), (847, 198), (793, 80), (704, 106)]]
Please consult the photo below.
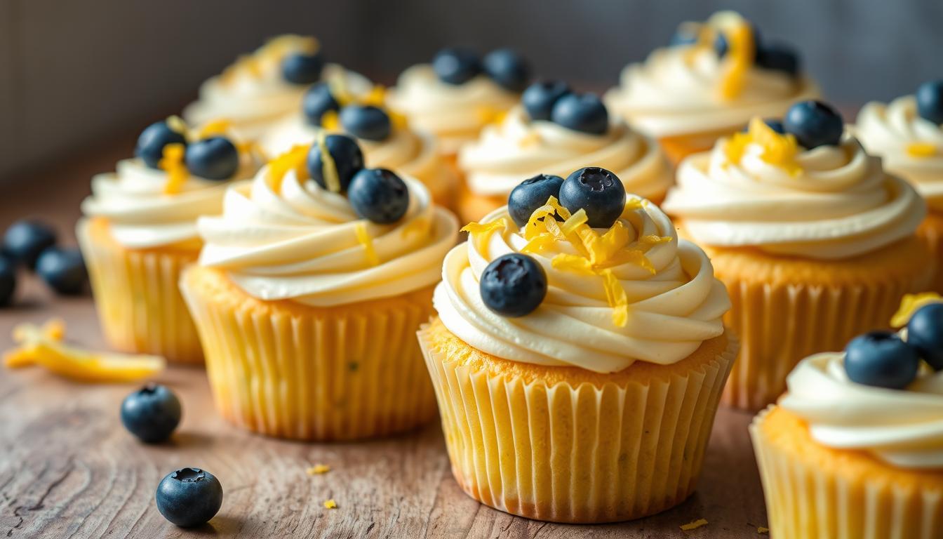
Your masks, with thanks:
[(391, 114), (385, 92), (374, 86), (368, 93), (354, 93), (337, 82), (321, 82), (309, 88), (295, 114), (262, 137), (259, 145), (269, 155), (279, 155), (296, 144), (309, 144), (322, 129), (356, 137), (368, 167), (387, 168), (422, 181), (439, 206), (455, 204), (457, 175), (452, 163), (438, 153), (432, 136), (415, 131), (405, 118)]

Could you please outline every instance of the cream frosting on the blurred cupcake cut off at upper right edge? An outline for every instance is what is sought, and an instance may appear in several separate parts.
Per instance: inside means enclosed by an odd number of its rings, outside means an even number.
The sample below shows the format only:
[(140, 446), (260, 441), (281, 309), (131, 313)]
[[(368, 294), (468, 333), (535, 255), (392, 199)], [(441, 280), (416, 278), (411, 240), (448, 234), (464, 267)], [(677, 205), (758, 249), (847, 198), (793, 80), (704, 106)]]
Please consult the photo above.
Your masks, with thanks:
[[(865, 105), (853, 130), (869, 153), (881, 156), (888, 172), (912, 183), (931, 208), (943, 211), (943, 128), (920, 117), (913, 95), (889, 105)], [(915, 145), (933, 151), (908, 151)]]

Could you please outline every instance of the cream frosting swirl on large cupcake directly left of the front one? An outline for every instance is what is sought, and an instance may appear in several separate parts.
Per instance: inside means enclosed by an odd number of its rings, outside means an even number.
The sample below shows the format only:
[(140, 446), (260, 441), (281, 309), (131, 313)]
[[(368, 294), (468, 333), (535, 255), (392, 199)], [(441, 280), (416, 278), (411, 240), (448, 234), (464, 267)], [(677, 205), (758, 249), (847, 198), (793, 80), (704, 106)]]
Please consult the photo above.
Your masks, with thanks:
[[(392, 225), (356, 216), (347, 198), (290, 171), (275, 191), (265, 167), (232, 186), (223, 215), (202, 218), (200, 263), (222, 268), (248, 295), (314, 307), (402, 295), (435, 284), (457, 221), (404, 177), (409, 208)], [(369, 238), (361, 243), (360, 234)], [(372, 260), (375, 254), (376, 260)]]

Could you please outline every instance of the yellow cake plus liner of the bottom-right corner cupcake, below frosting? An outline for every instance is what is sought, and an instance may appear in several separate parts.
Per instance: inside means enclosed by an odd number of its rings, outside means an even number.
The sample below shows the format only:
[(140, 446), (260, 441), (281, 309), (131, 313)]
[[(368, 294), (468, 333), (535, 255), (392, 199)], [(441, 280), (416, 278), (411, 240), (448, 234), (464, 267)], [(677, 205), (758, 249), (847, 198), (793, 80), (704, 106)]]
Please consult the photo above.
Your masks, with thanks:
[(775, 539), (939, 539), (943, 474), (891, 468), (817, 445), (801, 420), (769, 407), (750, 427)]

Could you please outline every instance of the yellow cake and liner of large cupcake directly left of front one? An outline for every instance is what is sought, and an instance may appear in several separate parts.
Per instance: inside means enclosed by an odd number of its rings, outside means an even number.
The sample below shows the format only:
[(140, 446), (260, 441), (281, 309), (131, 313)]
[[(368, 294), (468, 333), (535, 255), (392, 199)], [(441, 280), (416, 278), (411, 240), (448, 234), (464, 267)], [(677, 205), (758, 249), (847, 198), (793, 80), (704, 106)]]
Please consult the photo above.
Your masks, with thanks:
[(216, 408), (242, 428), (296, 440), (413, 430), (436, 414), (416, 330), (432, 288), (314, 308), (261, 301), (192, 266), (181, 289), (203, 338)]

